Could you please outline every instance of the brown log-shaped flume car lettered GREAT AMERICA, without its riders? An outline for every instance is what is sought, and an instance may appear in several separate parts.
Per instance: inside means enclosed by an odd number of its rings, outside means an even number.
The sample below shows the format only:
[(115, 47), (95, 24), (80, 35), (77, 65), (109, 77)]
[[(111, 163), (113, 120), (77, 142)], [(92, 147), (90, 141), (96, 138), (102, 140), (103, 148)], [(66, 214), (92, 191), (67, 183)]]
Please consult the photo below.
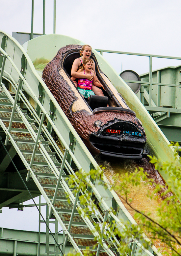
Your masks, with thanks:
[(146, 143), (142, 123), (100, 70), (93, 53), (91, 58), (105, 97), (91, 95), (87, 102), (70, 79), (72, 64), (80, 57), (81, 48), (62, 47), (44, 68), (44, 82), (92, 154), (142, 158)]

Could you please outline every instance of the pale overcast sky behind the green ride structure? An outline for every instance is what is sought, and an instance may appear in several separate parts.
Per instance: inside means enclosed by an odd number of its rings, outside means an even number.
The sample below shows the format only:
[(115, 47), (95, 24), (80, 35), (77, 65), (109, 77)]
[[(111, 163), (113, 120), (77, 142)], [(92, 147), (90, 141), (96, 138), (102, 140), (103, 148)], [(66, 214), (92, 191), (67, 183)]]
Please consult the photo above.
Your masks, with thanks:
[[(0, 0), (0, 30), (10, 35), (31, 32), (31, 2)], [(53, 33), (53, 0), (46, 0), (45, 11), (45, 33)], [(180, 0), (57, 0), (56, 33), (80, 39), (95, 49), (181, 57), (180, 12)], [(42, 16), (43, 0), (34, 0), (34, 33), (42, 33)], [(103, 56), (117, 72), (121, 72), (121, 64), (123, 70), (148, 71), (146, 57)], [(181, 61), (157, 59), (153, 69), (179, 64)], [(37, 231), (38, 213), (34, 223), (33, 211), (27, 211), (3, 208), (0, 227)]]

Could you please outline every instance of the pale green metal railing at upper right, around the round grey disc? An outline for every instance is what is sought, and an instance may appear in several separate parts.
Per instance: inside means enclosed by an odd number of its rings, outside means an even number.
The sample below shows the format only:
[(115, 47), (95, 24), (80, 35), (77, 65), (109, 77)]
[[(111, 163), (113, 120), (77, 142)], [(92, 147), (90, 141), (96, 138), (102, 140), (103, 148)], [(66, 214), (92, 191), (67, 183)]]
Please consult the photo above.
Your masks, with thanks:
[[(149, 92), (149, 100), (148, 100), (148, 106), (151, 107), (151, 101), (152, 101), (152, 85), (157, 85), (157, 107), (159, 107), (160, 103), (160, 87), (161, 86), (169, 86), (169, 87), (179, 87), (181, 88), (181, 85), (176, 84), (168, 84), (168, 83), (160, 83), (160, 70), (157, 71), (157, 82), (152, 81), (152, 58), (163, 58), (163, 59), (173, 59), (173, 60), (181, 60), (180, 57), (170, 57), (170, 56), (162, 56), (162, 55), (154, 55), (154, 54), (141, 54), (141, 53), (131, 53), (131, 52), (119, 52), (119, 51), (110, 51), (110, 50), (101, 50), (101, 49), (95, 49), (96, 51), (100, 52), (100, 54), (103, 56), (103, 53), (116, 53), (116, 54), (125, 54), (125, 55), (135, 55), (135, 56), (143, 56), (143, 57), (149, 57), (149, 81), (139, 81), (141, 86), (141, 102), (144, 105), (144, 88), (148, 87)], [(138, 83), (138, 81), (133, 80), (124, 80), (125, 82), (131, 82), (131, 83)]]

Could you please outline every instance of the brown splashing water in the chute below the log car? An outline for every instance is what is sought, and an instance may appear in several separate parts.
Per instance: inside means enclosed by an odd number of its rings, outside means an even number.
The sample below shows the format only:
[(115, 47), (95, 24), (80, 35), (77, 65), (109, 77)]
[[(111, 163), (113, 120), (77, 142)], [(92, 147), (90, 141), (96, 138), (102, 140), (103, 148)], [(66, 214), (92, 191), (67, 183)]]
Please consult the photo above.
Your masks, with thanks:
[[(113, 177), (116, 174), (119, 175), (119, 179), (117, 180), (117, 183), (120, 183), (121, 175), (124, 176), (125, 173), (134, 172), (136, 168), (142, 167), (144, 171), (149, 174), (148, 178), (153, 179), (154, 183), (165, 186), (164, 180), (162, 179), (158, 171), (155, 170), (154, 165), (149, 162), (148, 157), (142, 158), (141, 160), (110, 158), (110, 159), (107, 159), (107, 161), (105, 161), (105, 160), (99, 159), (97, 160), (97, 162), (99, 165), (102, 165), (105, 167), (104, 174), (111, 184), (114, 183)], [(157, 220), (158, 217), (157, 217), (156, 209), (159, 208), (162, 198), (159, 194), (155, 195), (156, 200), (155, 199), (151, 200), (149, 197), (147, 197), (148, 190), (150, 191), (149, 194), (151, 194), (154, 191), (154, 185), (145, 186), (144, 182), (142, 182), (141, 187), (133, 187), (130, 185), (129, 189), (130, 189), (130, 198), (133, 199), (131, 206), (139, 211), (144, 211), (145, 214), (150, 212), (150, 217), (154, 220)], [(126, 207), (126, 209), (129, 211), (131, 216), (134, 218), (135, 211), (132, 210), (126, 204), (126, 202), (124, 201), (124, 198), (120, 196), (119, 192), (117, 192), (117, 194), (121, 199), (123, 205)], [(137, 223), (139, 224), (138, 221)], [(146, 233), (146, 231), (144, 233), (149, 238), (149, 234)], [(169, 255), (171, 255), (171, 252), (166, 248), (166, 245), (164, 243), (161, 243), (158, 239), (152, 242), (156, 248), (161, 249), (160, 250), (161, 253), (167, 250)]]

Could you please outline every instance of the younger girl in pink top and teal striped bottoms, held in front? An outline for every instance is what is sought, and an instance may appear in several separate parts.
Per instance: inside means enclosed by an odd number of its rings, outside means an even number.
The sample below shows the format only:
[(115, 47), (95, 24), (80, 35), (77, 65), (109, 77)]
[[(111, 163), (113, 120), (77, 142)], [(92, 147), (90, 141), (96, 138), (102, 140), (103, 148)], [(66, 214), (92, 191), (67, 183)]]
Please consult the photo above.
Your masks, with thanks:
[[(100, 86), (96, 79), (95, 79), (95, 74), (94, 71), (92, 70), (93, 67), (93, 60), (92, 59), (85, 59), (83, 61), (83, 65), (79, 67), (77, 72), (79, 74), (84, 74), (84, 75), (91, 75), (93, 80), (89, 80), (87, 78), (79, 78), (78, 80), (78, 85), (77, 89), (82, 95), (83, 98), (87, 98), (89, 100), (89, 97), (91, 95), (95, 95), (92, 91), (92, 84), (95, 86)], [(76, 79), (76, 77), (71, 78), (73, 81)]]

